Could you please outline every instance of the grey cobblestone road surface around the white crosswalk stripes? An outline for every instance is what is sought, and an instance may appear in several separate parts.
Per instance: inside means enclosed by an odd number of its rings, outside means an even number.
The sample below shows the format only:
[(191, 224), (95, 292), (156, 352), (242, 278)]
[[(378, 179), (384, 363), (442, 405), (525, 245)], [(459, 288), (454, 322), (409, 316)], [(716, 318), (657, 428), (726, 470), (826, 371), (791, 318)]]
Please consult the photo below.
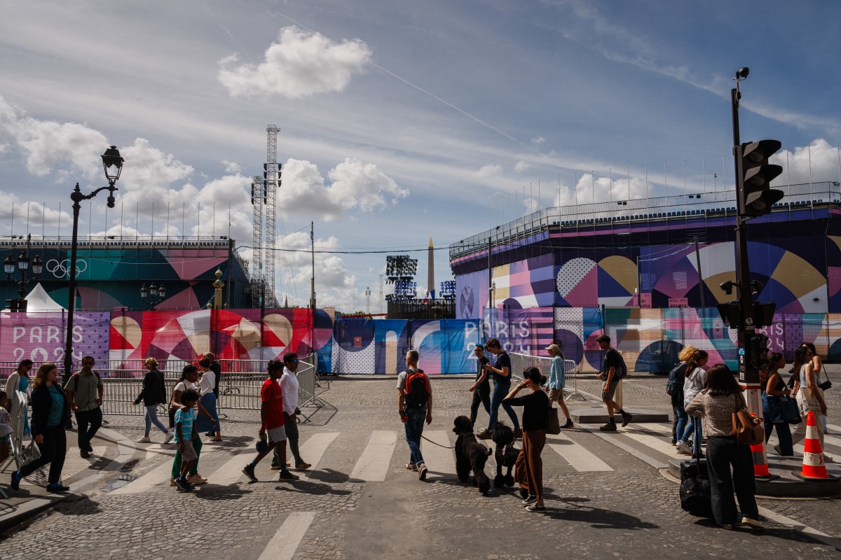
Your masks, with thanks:
[[(451, 445), (452, 419), (468, 411), (469, 383), (464, 378), (433, 379), (433, 421), (425, 430), (447, 433)], [(226, 411), (230, 420), (223, 421), (225, 442), (205, 444), (203, 450), (199, 470), (209, 477), (209, 484), (192, 495), (177, 493), (168, 485), (163, 466), (171, 461), (171, 453), (154, 444), (136, 444), (133, 458), (139, 461), (129, 477), (115, 471), (84, 495), (8, 532), (0, 544), (3, 558), (168, 558), (181, 550), (237, 560), (257, 559), (264, 552), (265, 557), (296, 559), (838, 555), (838, 549), (827, 543), (773, 521), (763, 534), (724, 531), (711, 521), (689, 516), (680, 510), (677, 484), (584, 429), (551, 437), (552, 447), (544, 448), (545, 515), (526, 511), (510, 489), (482, 496), (446, 472), (421, 482), (404, 466), (408, 447), (396, 413), (394, 385), (394, 378), (331, 382), (321, 396), (336, 410), (324, 407), (312, 422), (300, 425), (302, 442), (315, 434), (338, 433), (307, 480), (279, 483), (277, 471), (269, 470), (266, 459), (257, 468), (259, 483), (241, 477), (233, 484), (214, 484), (214, 476), (221, 477), (226, 464), (235, 463), (238, 469), (239, 458), (241, 465), (250, 460), (257, 431), (257, 411)], [(668, 408), (663, 386), (663, 377), (628, 379), (627, 408)], [(598, 383), (581, 379), (579, 389), (597, 393)], [(480, 411), (477, 424), (486, 419)], [(132, 441), (142, 435), (139, 415), (108, 420), (109, 428)], [(396, 432), (384, 480), (352, 478), (374, 431)], [(431, 447), (425, 447), (424, 453), (427, 449)], [(563, 458), (567, 449), (593, 453), (611, 470), (581, 472)], [(436, 464), (429, 466), (435, 473)], [(491, 458), (485, 472), (493, 478), (494, 470)], [(153, 471), (159, 484), (137, 494), (114, 493), (125, 484), (121, 476), (136, 479), (131, 484), (142, 484), (144, 475)], [(841, 536), (838, 500), (759, 500), (759, 505)], [(296, 514), (305, 513), (311, 514), (309, 526), (278, 535)], [(291, 542), (293, 548), (276, 550), (267, 547), (269, 542)]]

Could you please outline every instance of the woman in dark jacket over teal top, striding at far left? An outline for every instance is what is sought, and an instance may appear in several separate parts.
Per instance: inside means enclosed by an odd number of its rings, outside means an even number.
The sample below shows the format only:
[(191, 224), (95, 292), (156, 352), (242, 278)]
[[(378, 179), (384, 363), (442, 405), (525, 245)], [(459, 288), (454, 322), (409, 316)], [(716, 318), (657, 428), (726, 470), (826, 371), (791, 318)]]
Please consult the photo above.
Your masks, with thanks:
[(32, 381), (32, 436), (41, 453), (40, 458), (26, 463), (12, 473), (12, 489), (20, 488), (20, 481), (45, 465), (50, 465), (47, 477), (48, 492), (66, 492), (61, 484), (61, 469), (67, 454), (66, 421), (70, 417), (70, 402), (58, 382), (58, 367), (53, 362), (41, 364)]

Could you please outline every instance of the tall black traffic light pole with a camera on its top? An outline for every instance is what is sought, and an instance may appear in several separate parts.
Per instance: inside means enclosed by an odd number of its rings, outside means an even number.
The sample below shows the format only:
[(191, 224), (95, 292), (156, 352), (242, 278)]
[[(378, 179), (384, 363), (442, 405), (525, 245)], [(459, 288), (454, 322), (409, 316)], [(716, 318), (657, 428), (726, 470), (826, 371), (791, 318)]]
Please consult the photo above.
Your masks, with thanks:
[(762, 285), (750, 280), (747, 222), (770, 214), (771, 207), (783, 197), (783, 191), (770, 188), (770, 182), (782, 173), (780, 165), (770, 165), (768, 158), (782, 147), (778, 140), (741, 143), (738, 126), (738, 102), (742, 97), (739, 82), (748, 77), (748, 69), (736, 72), (736, 87), (731, 90), (733, 109), (733, 158), (736, 169), (736, 282), (720, 286), (727, 294), (737, 290), (737, 301), (722, 303), (718, 311), (729, 327), (738, 327), (738, 381), (746, 392), (748, 411), (762, 417), (759, 369), (768, 361), (768, 338), (755, 332), (774, 321), (775, 303), (754, 302)]

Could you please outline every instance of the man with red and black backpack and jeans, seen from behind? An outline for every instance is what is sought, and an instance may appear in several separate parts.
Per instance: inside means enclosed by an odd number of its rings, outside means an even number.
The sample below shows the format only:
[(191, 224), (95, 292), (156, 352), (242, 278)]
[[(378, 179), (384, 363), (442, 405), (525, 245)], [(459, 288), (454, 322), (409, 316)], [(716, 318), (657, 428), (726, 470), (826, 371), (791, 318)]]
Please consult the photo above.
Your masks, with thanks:
[(432, 423), (432, 387), (429, 377), (418, 368), (417, 350), (406, 353), (406, 369), (397, 375), (397, 411), (403, 421), (406, 443), (409, 444), (409, 463), (406, 468), (417, 471), (426, 480), (426, 463), (421, 455), (423, 421)]

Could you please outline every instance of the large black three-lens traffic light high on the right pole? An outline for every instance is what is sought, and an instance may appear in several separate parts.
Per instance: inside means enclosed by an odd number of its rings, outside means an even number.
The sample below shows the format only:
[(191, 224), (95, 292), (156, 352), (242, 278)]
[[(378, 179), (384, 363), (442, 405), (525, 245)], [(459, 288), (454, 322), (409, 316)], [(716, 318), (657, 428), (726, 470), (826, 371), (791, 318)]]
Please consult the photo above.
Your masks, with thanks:
[(763, 216), (780, 201), (783, 191), (770, 188), (771, 181), (783, 172), (780, 165), (771, 165), (768, 158), (782, 147), (779, 140), (759, 140), (736, 146), (738, 170), (739, 216)]

